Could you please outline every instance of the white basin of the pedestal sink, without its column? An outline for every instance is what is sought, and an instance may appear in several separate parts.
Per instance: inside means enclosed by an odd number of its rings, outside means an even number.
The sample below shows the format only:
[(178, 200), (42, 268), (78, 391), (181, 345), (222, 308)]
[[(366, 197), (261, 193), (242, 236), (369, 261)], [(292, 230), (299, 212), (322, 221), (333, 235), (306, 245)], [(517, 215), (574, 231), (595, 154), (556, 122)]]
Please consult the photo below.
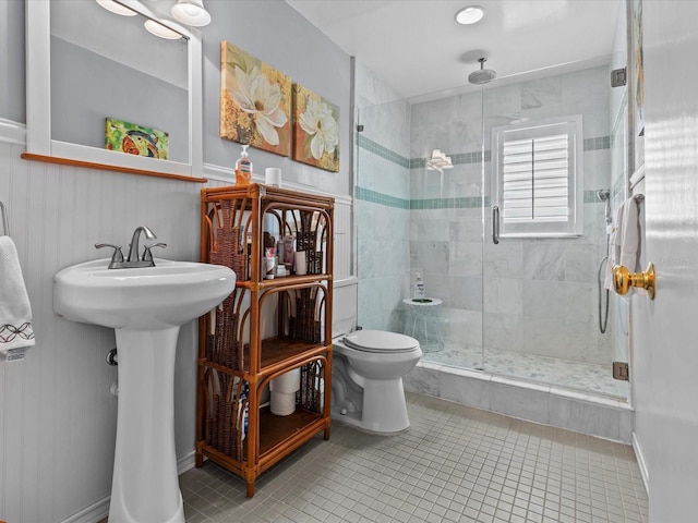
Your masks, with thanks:
[(236, 275), (220, 265), (155, 259), (155, 267), (108, 269), (109, 259), (73, 265), (53, 278), (53, 311), (115, 329), (183, 325), (218, 305)]

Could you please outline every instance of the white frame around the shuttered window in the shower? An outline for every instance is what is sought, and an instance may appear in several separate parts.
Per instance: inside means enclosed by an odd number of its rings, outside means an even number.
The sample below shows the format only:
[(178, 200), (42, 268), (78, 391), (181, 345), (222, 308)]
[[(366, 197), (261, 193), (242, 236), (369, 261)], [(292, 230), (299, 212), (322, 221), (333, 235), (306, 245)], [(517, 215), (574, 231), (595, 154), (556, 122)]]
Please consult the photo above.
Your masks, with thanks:
[[(550, 136), (567, 139), (567, 186), (566, 202), (559, 207), (567, 208), (566, 219), (513, 217), (513, 199), (505, 198), (504, 184), (504, 144), (514, 141), (531, 139), (533, 150), (541, 141)], [(526, 179), (534, 186), (534, 155), (531, 153), (531, 177)], [(540, 153), (539, 153), (540, 155)], [(564, 161), (564, 160), (563, 160)], [(494, 127), (492, 130), (492, 180), (493, 206), (498, 208), (498, 238), (576, 238), (583, 234), (583, 133), (580, 114), (526, 122), (516, 125)], [(509, 182), (510, 183), (510, 182)], [(508, 185), (510, 186), (510, 185)], [(564, 196), (558, 198), (562, 199)], [(535, 207), (534, 191), (531, 191), (531, 208)], [(539, 207), (540, 208), (540, 207)], [(496, 216), (496, 215), (495, 215)]]

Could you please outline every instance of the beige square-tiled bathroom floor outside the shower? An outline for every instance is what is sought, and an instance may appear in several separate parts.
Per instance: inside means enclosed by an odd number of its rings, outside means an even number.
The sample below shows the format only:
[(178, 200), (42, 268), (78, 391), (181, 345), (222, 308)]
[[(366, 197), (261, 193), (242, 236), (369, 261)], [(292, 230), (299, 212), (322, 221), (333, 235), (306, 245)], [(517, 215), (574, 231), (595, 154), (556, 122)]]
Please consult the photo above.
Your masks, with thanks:
[(407, 394), (411, 427), (333, 423), (258, 478), (206, 462), (180, 477), (189, 523), (645, 523), (629, 446)]

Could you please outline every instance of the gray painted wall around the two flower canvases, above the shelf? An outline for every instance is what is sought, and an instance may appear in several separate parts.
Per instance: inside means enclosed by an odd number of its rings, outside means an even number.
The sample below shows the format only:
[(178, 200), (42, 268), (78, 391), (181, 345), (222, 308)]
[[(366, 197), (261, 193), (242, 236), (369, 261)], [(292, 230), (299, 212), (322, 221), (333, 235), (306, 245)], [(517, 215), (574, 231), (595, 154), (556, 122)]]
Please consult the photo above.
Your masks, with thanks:
[(350, 58), (281, 0), (207, 2), (213, 22), (204, 28), (204, 161), (233, 168), (240, 145), (222, 139), (219, 127), (220, 42), (228, 40), (339, 106), (339, 173), (313, 169), (290, 158), (250, 150), (254, 171), (280, 167), (286, 180), (333, 194), (351, 194)]

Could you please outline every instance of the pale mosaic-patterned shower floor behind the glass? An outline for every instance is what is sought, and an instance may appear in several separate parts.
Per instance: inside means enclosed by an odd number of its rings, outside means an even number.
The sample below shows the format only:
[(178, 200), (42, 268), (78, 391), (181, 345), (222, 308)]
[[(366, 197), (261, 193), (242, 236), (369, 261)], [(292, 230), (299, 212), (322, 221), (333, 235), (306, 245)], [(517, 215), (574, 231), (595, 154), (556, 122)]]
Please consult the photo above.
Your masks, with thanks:
[(483, 366), (482, 349), (479, 346), (446, 342), (443, 349), (436, 344), (430, 344), (423, 350), (423, 362), (461, 368), (484, 368), (492, 374), (615, 398), (627, 398), (627, 382), (613, 379), (610, 365), (569, 362), (555, 357), (488, 349)]

